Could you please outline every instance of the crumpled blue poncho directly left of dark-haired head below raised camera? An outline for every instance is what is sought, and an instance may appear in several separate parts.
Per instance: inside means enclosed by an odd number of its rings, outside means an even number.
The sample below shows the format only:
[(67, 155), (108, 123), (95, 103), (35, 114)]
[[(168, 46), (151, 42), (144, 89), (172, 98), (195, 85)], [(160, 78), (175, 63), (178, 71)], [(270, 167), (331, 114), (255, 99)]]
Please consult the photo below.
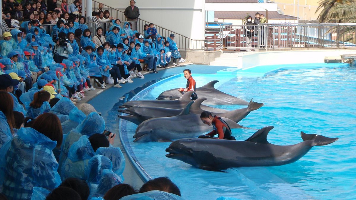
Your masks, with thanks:
[(91, 147), (88, 136), (80, 137), (69, 148), (68, 158), (62, 164), (62, 180), (70, 177), (86, 180), (85, 170), (88, 168), (88, 162), (94, 154), (95, 152), (93, 147)]

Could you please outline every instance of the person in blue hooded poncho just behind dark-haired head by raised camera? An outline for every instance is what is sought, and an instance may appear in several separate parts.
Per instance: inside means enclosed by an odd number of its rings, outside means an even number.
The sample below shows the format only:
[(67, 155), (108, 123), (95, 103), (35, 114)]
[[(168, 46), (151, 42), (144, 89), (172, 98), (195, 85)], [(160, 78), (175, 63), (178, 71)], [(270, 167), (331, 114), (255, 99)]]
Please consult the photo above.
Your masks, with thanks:
[(61, 174), (62, 164), (68, 157), (70, 147), (77, 142), (83, 135), (91, 136), (94, 133), (103, 133), (105, 130), (105, 121), (98, 113), (92, 112), (72, 131), (63, 137), (61, 147), (61, 156), (59, 157), (59, 170)]

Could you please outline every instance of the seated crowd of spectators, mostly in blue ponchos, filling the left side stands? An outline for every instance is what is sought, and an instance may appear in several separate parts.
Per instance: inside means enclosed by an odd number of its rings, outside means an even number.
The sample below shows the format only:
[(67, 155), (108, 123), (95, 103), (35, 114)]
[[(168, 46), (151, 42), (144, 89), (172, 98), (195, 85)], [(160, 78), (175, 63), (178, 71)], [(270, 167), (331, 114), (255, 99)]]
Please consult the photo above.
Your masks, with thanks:
[[(174, 34), (165, 38), (153, 24), (142, 36), (130, 23), (121, 27), (113, 19), (110, 31), (98, 27), (92, 34), (79, 16), (81, 0), (63, 0), (61, 8), (56, 0), (47, 3), (2, 2), (3, 17), (14, 29), (0, 42), (0, 193), (8, 199), (68, 199), (64, 194), (74, 193), (113, 199), (109, 191), (128, 188), (122, 184), (124, 157), (112, 147), (115, 134), (103, 135), (103, 118), (74, 104), (95, 84), (121, 88), (131, 78), (145, 78), (142, 70), (158, 73), (156, 67), (166, 68), (172, 57), (174, 66), (185, 59)], [(112, 19), (105, 11), (95, 16)], [(55, 24), (51, 33), (42, 26), (48, 23)], [(75, 184), (87, 184), (86, 198)], [(169, 193), (147, 195), (180, 199), (180, 193)]]

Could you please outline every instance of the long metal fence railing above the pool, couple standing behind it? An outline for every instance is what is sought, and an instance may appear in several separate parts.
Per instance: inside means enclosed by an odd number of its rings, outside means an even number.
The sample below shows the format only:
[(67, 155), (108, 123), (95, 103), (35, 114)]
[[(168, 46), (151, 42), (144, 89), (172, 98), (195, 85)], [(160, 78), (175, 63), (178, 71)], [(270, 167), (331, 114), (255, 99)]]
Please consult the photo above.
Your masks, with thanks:
[[(219, 33), (223, 48), (295, 49), (356, 48), (356, 25), (342, 23), (223, 25)], [(249, 40), (250, 39), (250, 40)], [(248, 43), (251, 41), (251, 45)], [(211, 43), (211, 42), (210, 42)], [(221, 47), (221, 45), (220, 45)]]

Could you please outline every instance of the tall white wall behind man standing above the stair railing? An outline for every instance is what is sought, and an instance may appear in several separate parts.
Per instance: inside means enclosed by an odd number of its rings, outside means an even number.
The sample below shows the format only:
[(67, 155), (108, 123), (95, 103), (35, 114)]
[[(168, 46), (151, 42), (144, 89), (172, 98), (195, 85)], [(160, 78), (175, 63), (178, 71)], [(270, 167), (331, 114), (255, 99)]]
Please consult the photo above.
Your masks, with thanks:
[[(130, 0), (100, 2), (121, 11), (130, 5)], [(193, 40), (204, 40), (205, 0), (136, 0), (136, 6), (140, 19)]]

